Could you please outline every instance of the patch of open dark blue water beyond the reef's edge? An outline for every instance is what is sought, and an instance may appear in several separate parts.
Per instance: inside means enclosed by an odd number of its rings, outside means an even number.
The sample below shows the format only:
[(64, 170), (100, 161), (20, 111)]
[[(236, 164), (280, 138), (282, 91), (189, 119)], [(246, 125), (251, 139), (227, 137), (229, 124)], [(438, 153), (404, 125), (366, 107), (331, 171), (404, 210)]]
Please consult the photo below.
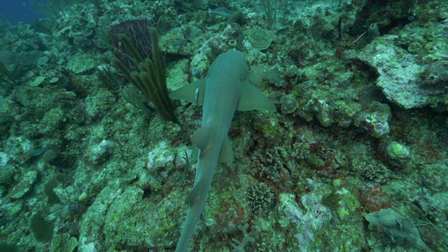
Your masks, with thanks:
[(39, 18), (45, 18), (42, 13), (32, 10), (29, 0), (0, 0), (0, 15), (1, 19), (6, 18), (11, 25), (17, 25), (18, 22), (32, 23)]

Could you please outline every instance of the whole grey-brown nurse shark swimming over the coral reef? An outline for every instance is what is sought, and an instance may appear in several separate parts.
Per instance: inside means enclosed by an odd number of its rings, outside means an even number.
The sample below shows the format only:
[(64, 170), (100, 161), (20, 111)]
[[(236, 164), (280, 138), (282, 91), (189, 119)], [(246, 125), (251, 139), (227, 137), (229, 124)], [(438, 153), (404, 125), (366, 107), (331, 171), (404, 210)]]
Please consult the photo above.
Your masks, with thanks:
[(229, 51), (219, 55), (209, 67), (207, 77), (197, 80), (170, 94), (204, 105), (202, 127), (191, 137), (200, 149), (195, 186), (186, 199), (188, 214), (176, 246), (177, 252), (187, 251), (209, 194), (216, 164), (235, 159), (228, 139), (235, 110), (260, 109), (276, 111), (276, 107), (260, 90), (248, 83), (248, 66), (241, 52)]

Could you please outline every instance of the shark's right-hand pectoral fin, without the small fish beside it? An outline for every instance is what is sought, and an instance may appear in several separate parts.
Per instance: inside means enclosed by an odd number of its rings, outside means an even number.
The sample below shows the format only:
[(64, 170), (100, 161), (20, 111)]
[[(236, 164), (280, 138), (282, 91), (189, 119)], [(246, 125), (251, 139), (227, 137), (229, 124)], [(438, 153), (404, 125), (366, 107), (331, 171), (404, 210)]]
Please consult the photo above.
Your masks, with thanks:
[(257, 87), (245, 82), (238, 100), (237, 110), (251, 111), (255, 109), (269, 112), (277, 111), (274, 102), (267, 98)]

